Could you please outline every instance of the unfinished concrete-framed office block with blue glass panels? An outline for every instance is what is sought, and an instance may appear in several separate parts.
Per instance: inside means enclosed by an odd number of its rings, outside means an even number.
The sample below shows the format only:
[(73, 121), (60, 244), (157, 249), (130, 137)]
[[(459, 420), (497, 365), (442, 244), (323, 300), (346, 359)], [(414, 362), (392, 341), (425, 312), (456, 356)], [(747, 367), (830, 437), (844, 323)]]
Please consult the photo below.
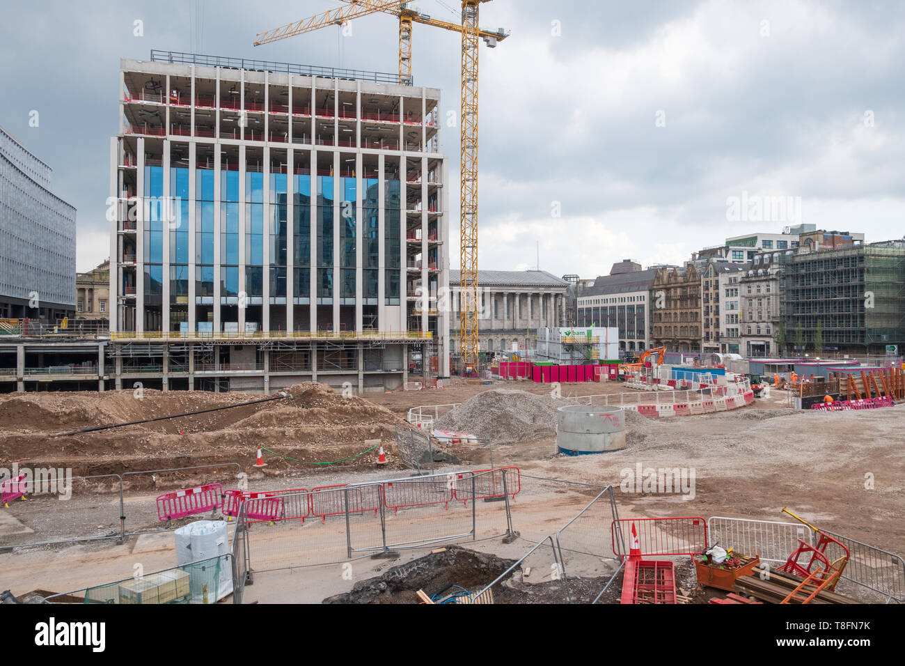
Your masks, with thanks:
[(186, 53), (120, 61), (118, 383), (149, 354), (165, 389), (382, 391), (407, 381), (410, 347), (448, 376), (440, 92), (397, 81)]

